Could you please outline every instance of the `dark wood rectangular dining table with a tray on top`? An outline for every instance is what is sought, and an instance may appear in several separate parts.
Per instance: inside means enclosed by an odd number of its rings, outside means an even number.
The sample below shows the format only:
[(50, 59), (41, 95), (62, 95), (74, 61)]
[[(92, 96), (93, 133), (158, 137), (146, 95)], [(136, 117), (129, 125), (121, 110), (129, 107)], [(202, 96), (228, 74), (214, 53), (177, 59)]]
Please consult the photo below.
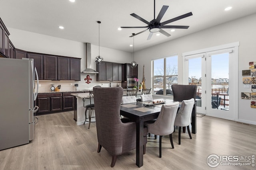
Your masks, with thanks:
[[(153, 104), (156, 102), (155, 104)], [(157, 103), (158, 102), (158, 103)], [(161, 111), (163, 104), (176, 102), (172, 99), (155, 99), (145, 102), (134, 102), (121, 104), (120, 115), (128, 117), (136, 122), (136, 165), (143, 166), (143, 130), (144, 122), (156, 119)], [(180, 102), (181, 105), (181, 102)], [(180, 108), (179, 105), (179, 108)], [(196, 134), (196, 102), (194, 104), (191, 116), (192, 133)]]

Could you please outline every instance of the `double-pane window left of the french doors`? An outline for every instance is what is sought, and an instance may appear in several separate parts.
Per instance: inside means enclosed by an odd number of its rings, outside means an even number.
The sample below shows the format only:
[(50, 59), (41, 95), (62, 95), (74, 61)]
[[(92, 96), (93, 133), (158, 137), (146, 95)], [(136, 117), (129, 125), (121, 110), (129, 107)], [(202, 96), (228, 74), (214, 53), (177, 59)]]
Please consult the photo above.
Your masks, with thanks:
[(172, 95), (172, 84), (178, 84), (178, 55), (155, 59), (153, 64), (153, 92)]

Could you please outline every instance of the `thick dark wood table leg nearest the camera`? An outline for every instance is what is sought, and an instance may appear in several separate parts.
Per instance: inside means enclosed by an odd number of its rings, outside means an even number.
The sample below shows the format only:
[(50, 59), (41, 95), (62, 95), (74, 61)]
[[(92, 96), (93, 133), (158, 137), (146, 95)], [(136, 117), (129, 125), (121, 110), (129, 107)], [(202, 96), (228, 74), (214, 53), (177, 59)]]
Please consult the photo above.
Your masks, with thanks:
[(136, 121), (136, 165), (143, 166), (143, 130), (144, 119), (140, 118)]

